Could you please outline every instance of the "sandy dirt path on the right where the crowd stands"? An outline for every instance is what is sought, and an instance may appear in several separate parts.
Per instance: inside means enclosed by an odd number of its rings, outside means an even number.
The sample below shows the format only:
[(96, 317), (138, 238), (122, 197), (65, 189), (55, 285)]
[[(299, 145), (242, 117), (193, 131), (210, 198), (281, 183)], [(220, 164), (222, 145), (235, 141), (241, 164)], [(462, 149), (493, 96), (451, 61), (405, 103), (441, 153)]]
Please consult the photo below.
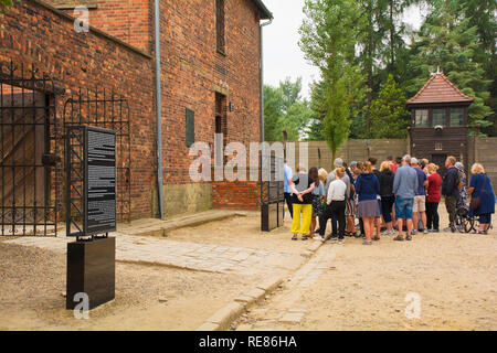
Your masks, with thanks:
[[(404, 243), (383, 237), (373, 246), (348, 238), (326, 244), (315, 257), (324, 260), (308, 264), (304, 278), (294, 276), (237, 329), (497, 330), (495, 229)], [(405, 315), (408, 293), (421, 300), (420, 319)]]

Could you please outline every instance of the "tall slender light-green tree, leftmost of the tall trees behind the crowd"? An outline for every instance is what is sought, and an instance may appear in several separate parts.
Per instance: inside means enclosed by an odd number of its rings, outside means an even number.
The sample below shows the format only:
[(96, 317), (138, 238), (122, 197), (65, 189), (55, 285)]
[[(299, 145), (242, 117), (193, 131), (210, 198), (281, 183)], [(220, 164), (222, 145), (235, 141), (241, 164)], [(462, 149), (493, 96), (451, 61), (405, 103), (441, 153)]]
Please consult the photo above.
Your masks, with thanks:
[(335, 159), (349, 136), (351, 96), (349, 81), (358, 77), (350, 57), (355, 52), (356, 2), (352, 0), (306, 0), (300, 49), (319, 67), (322, 82), (313, 96), (313, 110), (322, 121), (322, 135)]

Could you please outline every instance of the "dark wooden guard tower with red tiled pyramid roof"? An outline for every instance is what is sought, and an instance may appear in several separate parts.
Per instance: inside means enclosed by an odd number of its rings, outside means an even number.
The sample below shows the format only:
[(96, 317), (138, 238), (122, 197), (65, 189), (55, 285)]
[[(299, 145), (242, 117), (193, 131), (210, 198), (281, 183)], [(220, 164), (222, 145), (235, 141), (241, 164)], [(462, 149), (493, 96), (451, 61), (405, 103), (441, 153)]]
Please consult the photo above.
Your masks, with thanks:
[(443, 73), (432, 74), (423, 88), (408, 100), (412, 115), (412, 156), (427, 158), (441, 168), (441, 174), (445, 174), (444, 164), (448, 156), (456, 157), (466, 165), (469, 135), (467, 111), (473, 100)]

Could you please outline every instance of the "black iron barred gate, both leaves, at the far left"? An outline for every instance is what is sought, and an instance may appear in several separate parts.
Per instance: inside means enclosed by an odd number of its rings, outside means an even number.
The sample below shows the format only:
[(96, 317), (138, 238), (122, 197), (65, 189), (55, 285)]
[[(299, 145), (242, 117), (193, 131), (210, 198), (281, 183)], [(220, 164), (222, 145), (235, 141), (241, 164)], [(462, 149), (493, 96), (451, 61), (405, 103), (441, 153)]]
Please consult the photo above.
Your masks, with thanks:
[(56, 236), (65, 212), (64, 135), (74, 125), (116, 131), (116, 212), (118, 221), (130, 220), (127, 99), (80, 89), (65, 100), (60, 119), (56, 100), (63, 94), (45, 74), (0, 62), (0, 236)]

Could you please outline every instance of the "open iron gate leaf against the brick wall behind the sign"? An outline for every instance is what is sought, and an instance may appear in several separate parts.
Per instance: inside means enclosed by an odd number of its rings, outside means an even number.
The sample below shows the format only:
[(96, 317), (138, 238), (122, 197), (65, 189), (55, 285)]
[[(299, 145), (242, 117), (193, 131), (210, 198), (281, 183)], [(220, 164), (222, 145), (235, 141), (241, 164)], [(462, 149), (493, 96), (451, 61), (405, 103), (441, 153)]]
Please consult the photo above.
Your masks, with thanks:
[[(64, 133), (71, 126), (93, 126), (116, 132), (116, 215), (117, 221), (130, 221), (131, 136), (127, 99), (105, 90), (80, 89), (64, 104)], [(70, 156), (77, 158), (74, 153)]]

